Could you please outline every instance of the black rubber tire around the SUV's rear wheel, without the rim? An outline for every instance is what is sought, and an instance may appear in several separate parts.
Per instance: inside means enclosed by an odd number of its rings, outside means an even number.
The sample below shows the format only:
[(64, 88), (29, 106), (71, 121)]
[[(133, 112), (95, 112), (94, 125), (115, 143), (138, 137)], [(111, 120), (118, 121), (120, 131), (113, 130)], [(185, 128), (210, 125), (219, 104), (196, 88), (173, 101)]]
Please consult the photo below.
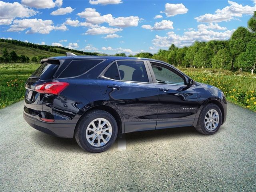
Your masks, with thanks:
[[(96, 118), (105, 118), (108, 120), (112, 127), (112, 135), (110, 140), (103, 146), (92, 146), (86, 139), (86, 129), (87, 126), (92, 122), (92, 120)], [(115, 142), (117, 137), (118, 127), (115, 118), (108, 112), (104, 110), (92, 110), (86, 113), (84, 116), (80, 118), (78, 123), (76, 124), (75, 130), (75, 138), (78, 145), (88, 152), (92, 153), (100, 153), (108, 150), (110, 146)]]

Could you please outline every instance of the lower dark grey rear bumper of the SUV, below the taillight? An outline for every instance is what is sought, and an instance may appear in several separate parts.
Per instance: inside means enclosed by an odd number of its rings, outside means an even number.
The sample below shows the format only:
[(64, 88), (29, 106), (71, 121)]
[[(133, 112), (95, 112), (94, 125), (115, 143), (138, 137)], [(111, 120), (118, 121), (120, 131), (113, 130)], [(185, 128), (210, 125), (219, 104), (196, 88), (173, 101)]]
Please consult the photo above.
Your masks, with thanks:
[(36, 130), (44, 133), (64, 138), (73, 138), (76, 122), (68, 122), (68, 120), (56, 120), (55, 122), (43, 122), (36, 116), (30, 115), (23, 111), (23, 117), (26, 122)]

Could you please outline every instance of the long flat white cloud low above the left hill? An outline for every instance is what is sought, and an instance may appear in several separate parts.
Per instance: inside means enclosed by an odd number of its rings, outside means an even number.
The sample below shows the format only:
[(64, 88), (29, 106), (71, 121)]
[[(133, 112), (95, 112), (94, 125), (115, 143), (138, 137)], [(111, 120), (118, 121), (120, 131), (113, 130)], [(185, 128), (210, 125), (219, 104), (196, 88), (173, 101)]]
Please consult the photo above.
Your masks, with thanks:
[(49, 34), (52, 30), (67, 30), (67, 27), (62, 24), (61, 26), (54, 26), (52, 20), (42, 20), (42, 19), (22, 19), (14, 20), (13, 24), (7, 30), (9, 32), (19, 32), (26, 31), (26, 34), (41, 33)]

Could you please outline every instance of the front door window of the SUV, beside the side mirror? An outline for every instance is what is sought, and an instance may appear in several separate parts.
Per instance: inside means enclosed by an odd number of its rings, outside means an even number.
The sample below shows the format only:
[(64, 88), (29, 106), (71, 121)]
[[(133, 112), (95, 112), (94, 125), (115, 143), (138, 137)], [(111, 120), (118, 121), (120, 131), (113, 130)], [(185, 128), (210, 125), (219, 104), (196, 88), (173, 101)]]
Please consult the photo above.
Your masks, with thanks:
[(173, 71), (154, 64), (152, 64), (152, 69), (154, 71), (157, 83), (184, 85), (183, 78)]

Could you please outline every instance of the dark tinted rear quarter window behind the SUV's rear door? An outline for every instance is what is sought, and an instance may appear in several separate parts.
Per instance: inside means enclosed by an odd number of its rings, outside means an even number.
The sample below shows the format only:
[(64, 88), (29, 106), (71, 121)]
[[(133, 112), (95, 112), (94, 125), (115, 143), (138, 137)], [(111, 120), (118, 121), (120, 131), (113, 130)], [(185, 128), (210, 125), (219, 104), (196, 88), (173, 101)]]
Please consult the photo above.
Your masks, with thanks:
[(85, 73), (102, 60), (73, 60), (68, 67), (60, 74), (59, 78), (74, 77)]

